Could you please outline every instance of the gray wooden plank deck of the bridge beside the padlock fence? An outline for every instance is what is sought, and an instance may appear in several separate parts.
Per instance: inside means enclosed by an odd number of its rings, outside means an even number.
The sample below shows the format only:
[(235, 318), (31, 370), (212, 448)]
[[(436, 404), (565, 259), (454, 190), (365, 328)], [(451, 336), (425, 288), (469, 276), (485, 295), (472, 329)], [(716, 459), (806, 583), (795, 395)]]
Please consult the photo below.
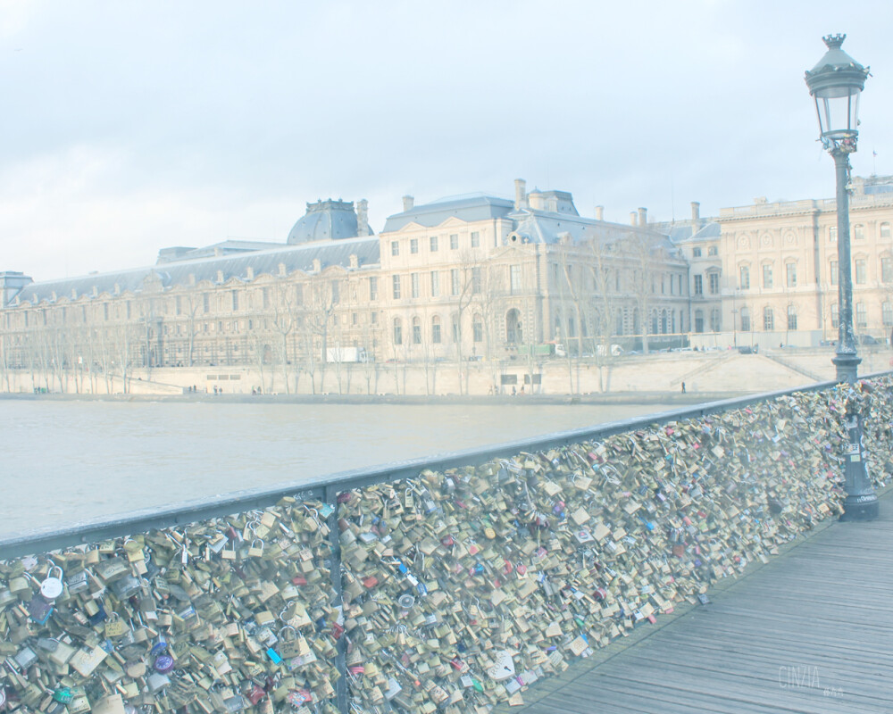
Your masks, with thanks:
[(893, 712), (893, 492), (723, 585), (498, 711)]

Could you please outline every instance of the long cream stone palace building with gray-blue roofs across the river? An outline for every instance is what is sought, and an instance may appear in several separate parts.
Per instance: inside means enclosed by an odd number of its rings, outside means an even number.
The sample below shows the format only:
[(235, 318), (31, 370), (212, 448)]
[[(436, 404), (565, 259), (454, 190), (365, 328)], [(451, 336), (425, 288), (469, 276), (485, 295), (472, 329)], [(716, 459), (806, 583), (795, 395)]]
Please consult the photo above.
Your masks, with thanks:
[[(458, 195), (388, 217), (308, 203), (285, 243), (167, 247), (146, 268), (33, 281), (0, 273), (0, 380), (228, 366), (313, 378), (342, 361), (493, 361), (836, 337), (833, 200), (630, 223), (572, 195)], [(893, 179), (855, 179), (857, 332), (893, 327)], [(349, 355), (349, 356), (346, 356)], [(96, 377), (100, 375), (100, 377)], [(8, 385), (8, 379), (6, 379)]]

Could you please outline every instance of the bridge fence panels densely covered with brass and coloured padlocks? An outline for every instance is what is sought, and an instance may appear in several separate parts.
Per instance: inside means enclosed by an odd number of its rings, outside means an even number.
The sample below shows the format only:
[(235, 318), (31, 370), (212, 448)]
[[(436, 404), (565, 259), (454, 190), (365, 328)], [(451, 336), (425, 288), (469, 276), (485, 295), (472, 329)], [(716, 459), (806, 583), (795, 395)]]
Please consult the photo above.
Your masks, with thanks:
[[(893, 384), (868, 389), (880, 486)], [(837, 515), (846, 397), (790, 394), (8, 558), (0, 691), (103, 714), (522, 702)]]

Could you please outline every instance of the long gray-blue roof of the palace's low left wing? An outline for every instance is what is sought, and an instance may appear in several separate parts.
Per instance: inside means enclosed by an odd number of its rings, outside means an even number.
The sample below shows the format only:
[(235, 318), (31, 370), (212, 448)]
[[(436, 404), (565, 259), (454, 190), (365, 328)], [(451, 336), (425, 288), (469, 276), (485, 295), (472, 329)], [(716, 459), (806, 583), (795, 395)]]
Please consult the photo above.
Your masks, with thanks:
[(350, 265), (352, 254), (357, 256), (361, 266), (377, 265), (379, 263), (379, 239), (364, 236), (337, 241), (318, 241), (304, 245), (283, 246), (276, 250), (227, 255), (221, 258), (172, 262), (161, 266), (96, 273), (79, 278), (46, 280), (23, 287), (17, 295), (17, 299), (20, 303), (30, 303), (35, 300), (37, 302), (52, 301), (54, 294), (58, 298), (74, 299), (80, 295), (93, 295), (94, 287), (96, 287), (97, 295), (103, 293), (114, 295), (115, 286), (121, 293), (126, 291), (138, 293), (143, 290), (146, 282), (152, 283), (155, 280), (160, 280), (165, 288), (188, 286), (192, 284), (191, 276), (195, 277), (196, 283), (202, 280), (216, 283), (219, 278), (218, 271), (222, 273), (223, 282), (230, 278), (244, 280), (247, 279), (249, 268), (254, 270), (255, 276), (278, 275), (280, 263), (285, 265), (285, 269), (289, 273), (294, 270), (310, 271), (313, 270), (313, 261), (316, 259), (321, 262), (321, 268), (330, 265), (347, 267)]

